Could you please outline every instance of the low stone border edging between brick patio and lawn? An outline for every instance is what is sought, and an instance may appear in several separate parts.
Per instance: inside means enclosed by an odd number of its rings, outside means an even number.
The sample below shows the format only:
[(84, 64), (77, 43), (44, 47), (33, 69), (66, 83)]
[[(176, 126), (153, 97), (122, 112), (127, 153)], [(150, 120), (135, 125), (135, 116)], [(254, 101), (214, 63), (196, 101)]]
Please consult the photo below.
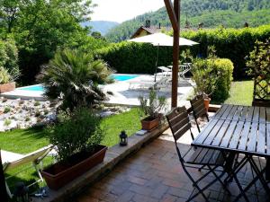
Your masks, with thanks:
[(67, 201), (70, 197), (75, 196), (85, 187), (89, 187), (91, 183), (98, 178), (102, 177), (103, 174), (112, 171), (112, 169), (121, 160), (125, 159), (128, 155), (139, 150), (143, 145), (148, 144), (153, 139), (160, 136), (168, 128), (167, 123), (163, 123), (160, 127), (157, 127), (151, 132), (148, 132), (144, 136), (138, 136), (133, 134), (129, 137), (129, 144), (127, 146), (114, 145), (110, 147), (106, 154), (104, 161), (96, 165), (90, 171), (86, 171), (83, 175), (77, 177), (75, 180), (69, 182), (66, 186), (57, 191), (49, 189), (49, 198), (32, 198), (33, 202), (61, 202)]

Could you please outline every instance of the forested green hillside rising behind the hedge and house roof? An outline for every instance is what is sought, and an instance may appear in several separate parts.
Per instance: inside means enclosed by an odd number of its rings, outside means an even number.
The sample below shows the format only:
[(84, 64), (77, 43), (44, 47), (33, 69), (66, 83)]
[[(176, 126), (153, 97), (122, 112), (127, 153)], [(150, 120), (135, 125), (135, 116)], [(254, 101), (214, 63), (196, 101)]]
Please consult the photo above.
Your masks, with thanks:
[[(239, 28), (245, 22), (256, 27), (270, 22), (270, 3), (269, 0), (182, 0), (182, 27), (186, 19), (193, 28), (197, 28), (201, 22), (204, 28), (220, 25)], [(106, 38), (113, 42), (129, 39), (146, 20), (150, 20), (152, 25), (160, 22), (163, 27), (170, 26), (166, 8), (163, 7), (157, 12), (145, 13), (121, 23), (109, 31)]]

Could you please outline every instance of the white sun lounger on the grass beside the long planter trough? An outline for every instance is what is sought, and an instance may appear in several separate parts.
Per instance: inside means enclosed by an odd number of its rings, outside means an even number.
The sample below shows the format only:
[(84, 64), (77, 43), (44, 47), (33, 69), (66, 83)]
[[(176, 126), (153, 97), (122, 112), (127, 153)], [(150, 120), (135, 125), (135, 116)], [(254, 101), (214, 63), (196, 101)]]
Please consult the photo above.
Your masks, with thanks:
[[(4, 159), (4, 161), (3, 161), (3, 170), (4, 170), (4, 172), (10, 171), (10, 170), (12, 170), (14, 168), (17, 168), (17, 167), (21, 166), (21, 165), (24, 165), (26, 163), (32, 162), (32, 165), (35, 168), (35, 170), (37, 171), (40, 180), (35, 181), (31, 185), (33, 185), (33, 184), (35, 184), (35, 183), (37, 183), (39, 181), (43, 181), (42, 176), (40, 174), (40, 170), (38, 168), (38, 165), (40, 164), (40, 162), (42, 161), (42, 159), (47, 154), (49, 154), (49, 152), (52, 150), (52, 148), (53, 148), (52, 145), (48, 145), (48, 146), (45, 146), (43, 148), (40, 148), (37, 151), (34, 151), (34, 152), (30, 153), (30, 154), (25, 154), (25, 155), (17, 154), (17, 155), (13, 155), (13, 157), (10, 158), (10, 159), (8, 157), (4, 156), (4, 154), (2, 154), (3, 155), (3, 159)], [(8, 154), (8, 152), (5, 153), (5, 154)], [(20, 172), (22, 172), (22, 171), (20, 171)], [(18, 172), (18, 173), (20, 173), (20, 172)], [(16, 174), (18, 174), (18, 173), (16, 173)], [(9, 177), (5, 178), (5, 187), (6, 187), (6, 192), (9, 195), (9, 197), (10, 198), (13, 198), (13, 194), (11, 193), (11, 191), (10, 191), (10, 189), (9, 189), (7, 183), (6, 183), (6, 180), (9, 179), (9, 178), (11, 178), (11, 177), (13, 177), (13, 176), (9, 176)], [(29, 185), (29, 187), (31, 185)]]

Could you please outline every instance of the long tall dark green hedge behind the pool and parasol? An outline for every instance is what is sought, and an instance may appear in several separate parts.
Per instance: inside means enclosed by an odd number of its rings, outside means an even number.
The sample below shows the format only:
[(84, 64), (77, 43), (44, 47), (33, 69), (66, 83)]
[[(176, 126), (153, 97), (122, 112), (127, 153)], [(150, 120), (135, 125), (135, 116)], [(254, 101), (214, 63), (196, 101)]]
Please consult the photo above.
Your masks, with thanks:
[[(170, 33), (172, 34), (172, 33)], [(270, 25), (257, 28), (183, 31), (181, 36), (200, 43), (191, 48), (193, 56), (207, 56), (207, 47), (214, 45), (218, 57), (229, 58), (234, 64), (234, 79), (247, 78), (245, 57), (253, 50), (256, 40), (270, 38)], [(184, 50), (184, 47), (180, 48)], [(157, 66), (172, 64), (172, 48), (160, 47)], [(157, 47), (147, 43), (113, 43), (97, 51), (118, 73), (153, 74), (157, 57)]]

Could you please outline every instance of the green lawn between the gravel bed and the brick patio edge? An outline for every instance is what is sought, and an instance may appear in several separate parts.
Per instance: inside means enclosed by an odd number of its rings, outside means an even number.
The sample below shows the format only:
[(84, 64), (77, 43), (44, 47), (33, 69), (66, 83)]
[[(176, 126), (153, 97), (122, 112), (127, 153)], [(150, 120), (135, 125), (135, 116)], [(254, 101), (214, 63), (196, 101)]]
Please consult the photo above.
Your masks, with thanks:
[[(132, 109), (128, 112), (121, 113), (119, 115), (113, 115), (111, 117), (102, 120), (101, 127), (106, 129), (106, 134), (102, 144), (112, 146), (119, 142), (119, 134), (121, 130), (126, 130), (130, 136), (140, 129), (139, 113), (137, 109)], [(44, 129), (41, 127), (28, 128), (28, 129), (15, 129), (10, 132), (0, 133), (0, 148), (6, 151), (27, 154), (33, 152), (40, 147), (49, 145), (49, 140), (46, 138)], [(53, 161), (52, 157), (47, 157), (43, 164), (46, 166)], [(9, 171), (8, 175), (14, 175), (18, 171), (22, 171), (25, 167), (21, 166), (18, 169)], [(23, 171), (16, 177), (9, 180), (9, 184), (13, 185), (14, 181), (26, 181), (29, 183), (32, 179), (36, 179), (34, 169), (30, 168), (27, 171)]]

